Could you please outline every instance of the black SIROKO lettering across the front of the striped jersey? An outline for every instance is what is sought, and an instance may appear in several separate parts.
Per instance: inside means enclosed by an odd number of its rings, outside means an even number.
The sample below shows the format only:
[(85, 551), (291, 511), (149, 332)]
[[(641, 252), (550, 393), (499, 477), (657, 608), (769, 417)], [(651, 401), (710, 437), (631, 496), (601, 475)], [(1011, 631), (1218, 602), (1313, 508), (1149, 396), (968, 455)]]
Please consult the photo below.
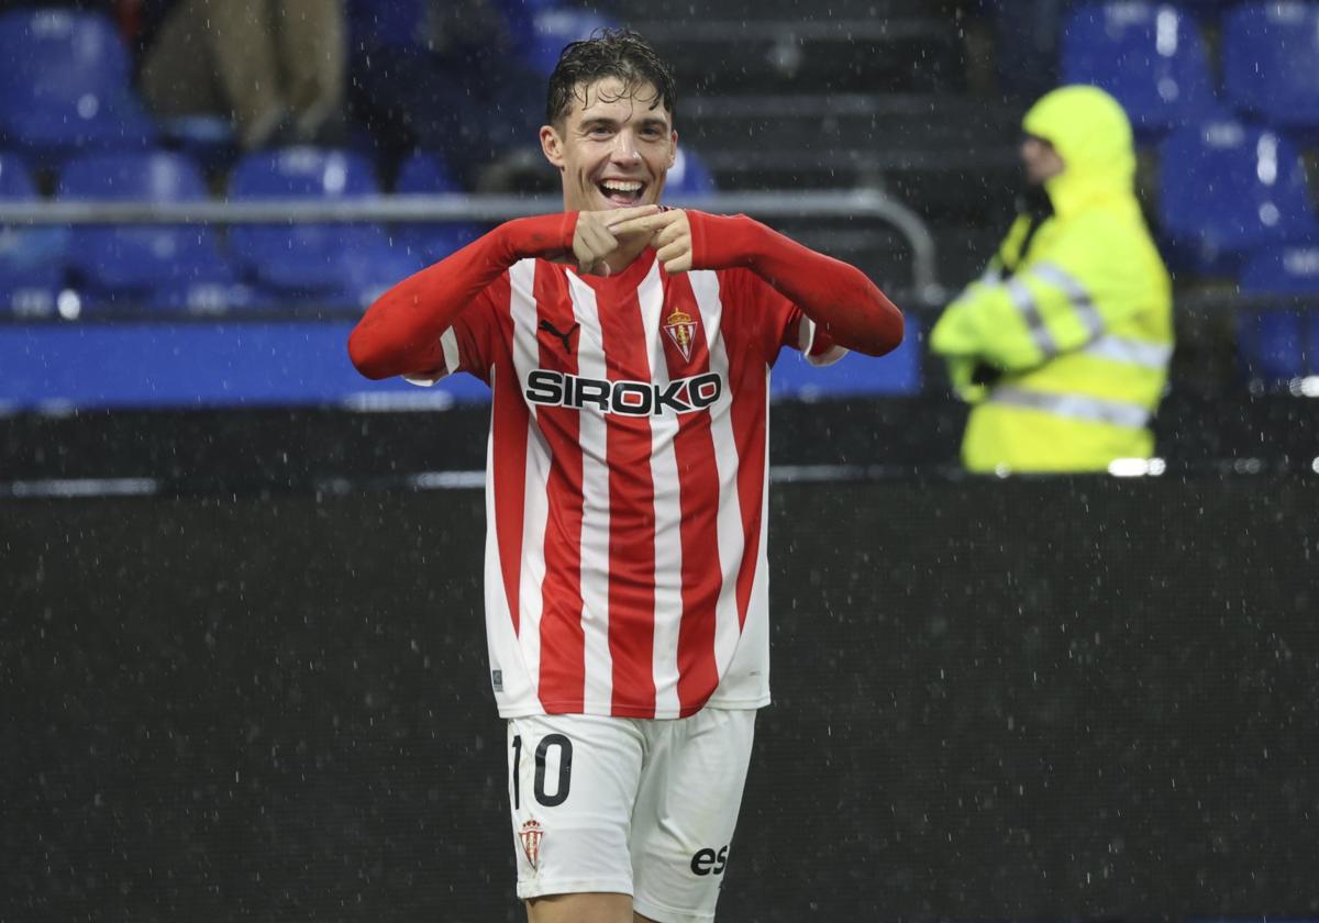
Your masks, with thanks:
[(660, 385), (587, 378), (554, 369), (532, 369), (524, 392), (532, 403), (575, 410), (595, 407), (600, 413), (628, 417), (662, 417), (666, 410), (690, 414), (715, 403), (723, 393), (724, 380), (715, 372)]

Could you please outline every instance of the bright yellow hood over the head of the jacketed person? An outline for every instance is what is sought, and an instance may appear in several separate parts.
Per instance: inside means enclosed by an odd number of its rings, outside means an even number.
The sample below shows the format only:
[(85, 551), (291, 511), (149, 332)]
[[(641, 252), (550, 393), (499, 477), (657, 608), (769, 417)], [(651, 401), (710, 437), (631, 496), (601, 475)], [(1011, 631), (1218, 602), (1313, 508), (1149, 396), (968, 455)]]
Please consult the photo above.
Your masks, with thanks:
[(1134, 196), (1132, 124), (1117, 100), (1099, 87), (1060, 87), (1039, 99), (1022, 128), (1054, 145), (1063, 171), (1045, 182), (1059, 216), (1093, 199)]

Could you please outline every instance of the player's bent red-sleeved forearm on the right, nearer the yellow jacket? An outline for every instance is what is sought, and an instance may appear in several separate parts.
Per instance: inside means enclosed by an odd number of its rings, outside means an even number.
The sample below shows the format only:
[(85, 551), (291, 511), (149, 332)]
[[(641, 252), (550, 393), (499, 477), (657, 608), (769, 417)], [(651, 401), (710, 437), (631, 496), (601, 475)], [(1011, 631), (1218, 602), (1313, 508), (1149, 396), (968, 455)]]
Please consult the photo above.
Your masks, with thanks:
[(689, 220), (692, 268), (751, 269), (848, 349), (882, 356), (902, 342), (902, 313), (856, 266), (744, 215), (689, 212)]

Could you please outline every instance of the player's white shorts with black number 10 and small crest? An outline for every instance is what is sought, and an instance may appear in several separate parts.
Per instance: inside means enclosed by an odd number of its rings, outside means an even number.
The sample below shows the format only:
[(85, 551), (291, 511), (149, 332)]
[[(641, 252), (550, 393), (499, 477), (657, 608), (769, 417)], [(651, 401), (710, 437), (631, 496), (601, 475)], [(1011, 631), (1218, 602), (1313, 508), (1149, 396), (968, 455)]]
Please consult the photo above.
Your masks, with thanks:
[(517, 895), (605, 891), (660, 923), (715, 918), (756, 712), (508, 723)]

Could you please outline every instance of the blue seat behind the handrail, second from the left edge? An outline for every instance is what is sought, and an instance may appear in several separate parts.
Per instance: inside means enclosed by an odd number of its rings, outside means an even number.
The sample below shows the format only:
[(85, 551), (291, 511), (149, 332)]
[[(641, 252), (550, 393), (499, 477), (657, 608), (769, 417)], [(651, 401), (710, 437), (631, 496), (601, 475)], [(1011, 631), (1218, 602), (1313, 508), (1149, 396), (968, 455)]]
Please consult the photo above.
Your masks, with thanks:
[[(65, 200), (203, 202), (207, 189), (200, 170), (183, 154), (103, 152), (71, 158), (59, 174), (57, 195)], [(214, 291), (237, 282), (215, 232), (204, 225), (80, 225), (73, 232), (70, 261), (86, 283), (88, 303), (185, 307), (193, 287)]]

